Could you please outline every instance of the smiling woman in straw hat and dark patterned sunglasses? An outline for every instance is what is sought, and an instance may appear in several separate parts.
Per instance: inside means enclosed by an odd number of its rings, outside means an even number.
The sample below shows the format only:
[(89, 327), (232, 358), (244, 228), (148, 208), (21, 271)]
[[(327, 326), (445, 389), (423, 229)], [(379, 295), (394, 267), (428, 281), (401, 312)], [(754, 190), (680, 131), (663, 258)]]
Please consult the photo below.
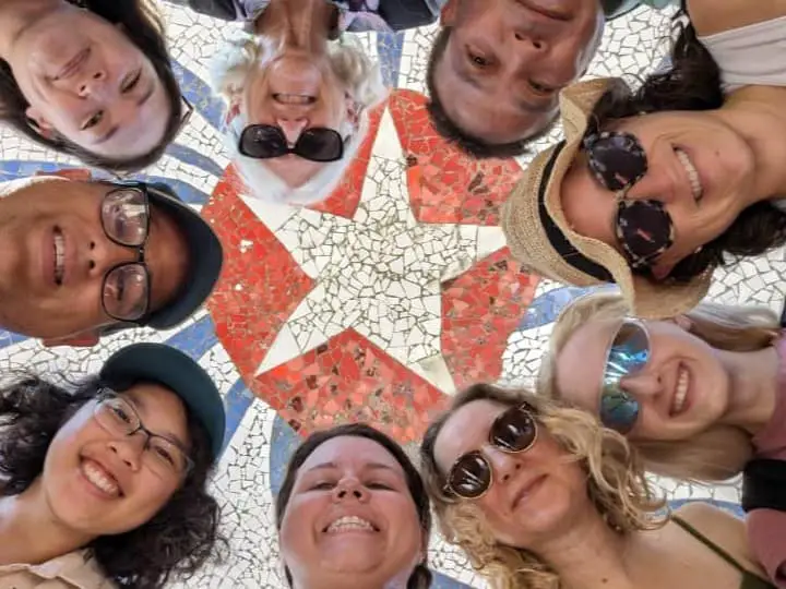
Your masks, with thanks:
[(688, 11), (672, 70), (636, 91), (619, 79), (563, 91), (565, 140), (534, 159), (502, 215), (525, 265), (617, 283), (640, 316), (695, 305), (727, 254), (786, 242), (786, 2)]

